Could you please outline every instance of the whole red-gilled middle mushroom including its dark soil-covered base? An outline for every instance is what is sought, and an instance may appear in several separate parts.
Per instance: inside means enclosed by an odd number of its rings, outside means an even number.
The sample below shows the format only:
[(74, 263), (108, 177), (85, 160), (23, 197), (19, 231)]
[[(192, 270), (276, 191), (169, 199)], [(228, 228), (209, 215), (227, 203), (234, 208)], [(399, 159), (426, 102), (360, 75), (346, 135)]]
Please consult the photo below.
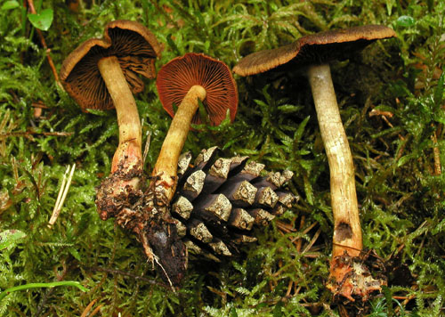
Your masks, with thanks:
[[(187, 53), (169, 61), (159, 70), (157, 86), (164, 108), (171, 115), (174, 104), (178, 109), (153, 168), (153, 181), (142, 196), (142, 211), (137, 212), (142, 219), (133, 230), (142, 241), (145, 255), (158, 264), (163, 278), (173, 286), (181, 282), (187, 267), (187, 250), (177, 232), (178, 221), (170, 211), (182, 147), (198, 100), (206, 106), (210, 122), (218, 125), (228, 109), (231, 119), (235, 117), (238, 93), (227, 65), (202, 53)], [(199, 122), (198, 118), (194, 122)]]

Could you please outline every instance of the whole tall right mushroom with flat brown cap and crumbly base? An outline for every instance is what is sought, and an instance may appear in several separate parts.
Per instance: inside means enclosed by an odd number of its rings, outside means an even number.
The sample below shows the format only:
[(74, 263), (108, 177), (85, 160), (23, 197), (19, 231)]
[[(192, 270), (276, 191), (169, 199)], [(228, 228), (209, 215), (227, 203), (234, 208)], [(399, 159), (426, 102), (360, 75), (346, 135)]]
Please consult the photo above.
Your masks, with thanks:
[[(355, 283), (360, 280), (362, 272), (352, 264), (345, 264), (346, 258), (359, 258), (363, 246), (352, 154), (338, 110), (328, 61), (343, 58), (378, 39), (389, 37), (395, 37), (394, 31), (378, 25), (331, 30), (301, 37), (276, 49), (249, 54), (233, 68), (240, 76), (255, 75), (284, 64), (287, 69), (307, 68), (320, 133), (328, 156), (334, 214), (328, 288), (336, 295), (351, 300), (352, 295), (366, 297), (373, 288), (366, 283)], [(375, 280), (368, 282), (375, 285)]]

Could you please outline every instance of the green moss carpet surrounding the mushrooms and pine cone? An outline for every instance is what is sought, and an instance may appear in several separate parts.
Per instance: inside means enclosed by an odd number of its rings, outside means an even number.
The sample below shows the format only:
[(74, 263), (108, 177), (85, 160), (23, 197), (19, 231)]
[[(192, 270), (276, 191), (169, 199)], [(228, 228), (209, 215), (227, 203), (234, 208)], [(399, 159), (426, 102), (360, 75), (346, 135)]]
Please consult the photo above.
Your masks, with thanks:
[[(374, 299), (368, 313), (443, 314), (445, 178), (434, 169), (435, 149), (442, 168), (445, 162), (443, 1), (125, 0), (80, 2), (77, 12), (65, 2), (43, 1), (42, 7), (54, 12), (43, 34), (56, 69), (115, 19), (138, 20), (155, 33), (164, 45), (158, 68), (187, 52), (233, 66), (247, 53), (320, 30), (368, 23), (394, 28), (397, 39), (332, 67), (356, 167), (364, 244), (387, 261), (390, 276), (384, 297)], [(1, 300), (0, 314), (81, 315), (94, 300), (106, 316), (338, 315), (324, 288), (332, 234), (328, 162), (304, 78), (237, 77), (235, 122), (190, 132), (184, 149), (196, 154), (218, 145), (227, 156), (249, 155), (268, 169), (294, 171), (289, 187), (301, 199), (279, 220), (296, 231), (283, 233), (275, 223), (258, 230), (258, 243), (243, 248), (240, 258), (191, 262), (174, 293), (139, 244), (112, 220), (100, 221), (95, 210), (94, 187), (109, 174), (117, 146), (114, 111), (83, 113), (59, 88), (20, 6), (0, 9), (0, 48), (0, 232), (25, 234), (0, 249), (0, 290), (61, 280), (89, 289), (15, 291)], [(146, 85), (135, 98), (144, 138), (151, 132), (150, 172), (171, 119), (154, 81)], [(36, 103), (43, 106), (37, 117)], [(371, 110), (386, 116), (370, 116)], [(50, 229), (61, 178), (74, 163), (68, 197)], [(316, 257), (297, 252), (292, 241), (298, 239), (303, 248), (314, 242)]]

